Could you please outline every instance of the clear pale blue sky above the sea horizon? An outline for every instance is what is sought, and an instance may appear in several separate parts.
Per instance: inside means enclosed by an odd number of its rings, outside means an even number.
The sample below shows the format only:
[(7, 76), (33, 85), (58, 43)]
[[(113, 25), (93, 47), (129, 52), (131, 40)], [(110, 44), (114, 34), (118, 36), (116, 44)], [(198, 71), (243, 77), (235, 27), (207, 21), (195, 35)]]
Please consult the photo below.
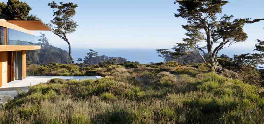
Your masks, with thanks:
[[(4, 0), (6, 2), (7, 0)], [(52, 0), (26, 1), (32, 10), (45, 23), (53, 18), (53, 11), (48, 6)], [(59, 2), (59, 1), (56, 1)], [(74, 20), (79, 25), (76, 32), (67, 35), (72, 48), (171, 48), (176, 42), (182, 42), (186, 24), (183, 18), (174, 17), (178, 5), (174, 0), (62, 0), (78, 4)], [(234, 18), (264, 18), (263, 0), (229, 0), (223, 14)], [(264, 21), (248, 24), (244, 31), (248, 39), (232, 48), (253, 49), (255, 39), (264, 38)], [(58, 36), (43, 31), (55, 47), (66, 48), (68, 45)], [(36, 32), (39, 35), (39, 32)]]

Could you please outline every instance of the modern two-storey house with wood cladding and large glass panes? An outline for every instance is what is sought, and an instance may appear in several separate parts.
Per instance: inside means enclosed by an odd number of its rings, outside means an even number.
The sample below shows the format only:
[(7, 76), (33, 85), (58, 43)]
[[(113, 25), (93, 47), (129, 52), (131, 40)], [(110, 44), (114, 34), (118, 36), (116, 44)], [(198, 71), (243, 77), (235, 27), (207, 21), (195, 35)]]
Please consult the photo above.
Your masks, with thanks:
[(26, 52), (40, 49), (34, 31), (50, 31), (39, 20), (8, 20), (0, 13), (0, 87), (26, 78)]

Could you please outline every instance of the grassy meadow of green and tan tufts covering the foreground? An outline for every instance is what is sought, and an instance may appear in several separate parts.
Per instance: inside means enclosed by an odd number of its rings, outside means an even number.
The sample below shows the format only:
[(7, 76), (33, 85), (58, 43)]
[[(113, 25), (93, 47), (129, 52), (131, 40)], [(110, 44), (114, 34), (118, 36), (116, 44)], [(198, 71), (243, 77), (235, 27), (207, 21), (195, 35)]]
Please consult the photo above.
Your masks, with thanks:
[(31, 86), (0, 110), (0, 123), (264, 122), (264, 99), (258, 87), (211, 73), (204, 64), (126, 63), (78, 68), (53, 63), (36, 68), (39, 75), (63, 72), (105, 77), (53, 79)]

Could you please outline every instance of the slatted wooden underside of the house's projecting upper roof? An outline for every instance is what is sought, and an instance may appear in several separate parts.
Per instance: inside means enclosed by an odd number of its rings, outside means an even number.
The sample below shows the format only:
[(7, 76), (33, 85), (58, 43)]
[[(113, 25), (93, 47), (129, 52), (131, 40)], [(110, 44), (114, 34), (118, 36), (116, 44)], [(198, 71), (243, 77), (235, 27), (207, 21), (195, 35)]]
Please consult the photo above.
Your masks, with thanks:
[(7, 22), (30, 31), (51, 31), (49, 27), (39, 20), (7, 20)]

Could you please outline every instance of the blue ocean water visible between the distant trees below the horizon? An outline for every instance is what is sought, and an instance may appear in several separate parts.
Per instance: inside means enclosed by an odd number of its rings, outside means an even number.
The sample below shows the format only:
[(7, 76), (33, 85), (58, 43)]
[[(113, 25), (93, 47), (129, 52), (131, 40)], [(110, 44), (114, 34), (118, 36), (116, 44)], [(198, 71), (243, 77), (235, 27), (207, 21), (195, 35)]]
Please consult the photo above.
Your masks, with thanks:
[[(64, 50), (67, 50), (64, 48)], [(67, 50), (68, 51), (68, 50)], [(138, 61), (140, 63), (146, 64), (150, 62), (163, 62), (163, 58), (158, 57), (155, 49), (95, 49), (98, 52), (98, 55), (107, 55), (109, 57), (123, 57), (128, 61)], [(72, 56), (76, 61), (77, 58), (81, 57), (82, 59), (86, 56), (88, 49), (72, 49)], [(252, 53), (252, 50), (239, 50), (239, 49), (226, 49), (219, 52), (221, 54), (226, 54), (229, 57), (233, 57), (234, 54), (244, 54)]]

